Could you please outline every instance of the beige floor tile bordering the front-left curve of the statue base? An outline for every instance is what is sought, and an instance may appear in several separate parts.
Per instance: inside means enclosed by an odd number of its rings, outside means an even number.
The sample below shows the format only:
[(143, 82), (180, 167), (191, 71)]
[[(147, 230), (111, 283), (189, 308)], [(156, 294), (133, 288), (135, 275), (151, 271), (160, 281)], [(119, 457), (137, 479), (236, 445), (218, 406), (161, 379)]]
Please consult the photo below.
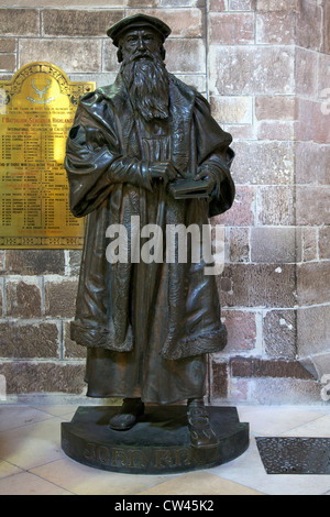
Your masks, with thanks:
[(118, 474), (64, 459), (31, 472), (78, 495), (134, 495), (170, 476)]

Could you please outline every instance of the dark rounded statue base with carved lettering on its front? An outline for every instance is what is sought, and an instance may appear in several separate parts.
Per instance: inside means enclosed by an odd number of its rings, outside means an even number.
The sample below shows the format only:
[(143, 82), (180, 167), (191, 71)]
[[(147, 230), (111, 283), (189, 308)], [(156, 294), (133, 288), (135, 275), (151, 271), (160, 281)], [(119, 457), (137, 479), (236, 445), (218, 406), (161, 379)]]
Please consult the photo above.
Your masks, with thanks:
[(146, 406), (129, 431), (109, 428), (119, 407), (79, 407), (62, 424), (62, 449), (73, 460), (103, 471), (169, 474), (227, 463), (249, 447), (249, 424), (234, 407), (208, 407), (219, 443), (208, 449), (190, 444), (186, 406)]

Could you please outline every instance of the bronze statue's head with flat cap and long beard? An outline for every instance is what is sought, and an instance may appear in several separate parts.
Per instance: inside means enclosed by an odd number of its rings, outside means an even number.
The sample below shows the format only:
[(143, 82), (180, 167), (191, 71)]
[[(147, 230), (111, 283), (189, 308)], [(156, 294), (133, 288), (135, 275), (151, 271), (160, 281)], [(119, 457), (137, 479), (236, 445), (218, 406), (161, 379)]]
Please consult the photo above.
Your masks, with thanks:
[(148, 121), (168, 117), (164, 42), (169, 33), (166, 23), (146, 14), (124, 18), (107, 33), (118, 47), (118, 61), (131, 102)]

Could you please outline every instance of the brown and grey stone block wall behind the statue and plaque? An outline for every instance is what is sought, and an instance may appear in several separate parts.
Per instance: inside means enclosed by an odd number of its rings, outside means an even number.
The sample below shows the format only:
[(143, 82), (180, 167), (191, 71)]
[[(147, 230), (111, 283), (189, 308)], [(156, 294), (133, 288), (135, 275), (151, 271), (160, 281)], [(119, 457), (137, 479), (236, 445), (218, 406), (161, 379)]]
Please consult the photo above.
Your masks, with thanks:
[[(218, 285), (229, 344), (210, 358), (209, 398), (321, 402), (320, 380), (330, 375), (330, 2), (24, 6), (2, 0), (1, 79), (46, 61), (102, 86), (118, 70), (108, 26), (143, 10), (172, 26), (168, 70), (209, 98), (237, 152), (234, 206), (212, 221), (226, 226)], [(0, 373), (9, 394), (84, 392), (84, 350), (68, 337), (79, 256), (0, 251)]]

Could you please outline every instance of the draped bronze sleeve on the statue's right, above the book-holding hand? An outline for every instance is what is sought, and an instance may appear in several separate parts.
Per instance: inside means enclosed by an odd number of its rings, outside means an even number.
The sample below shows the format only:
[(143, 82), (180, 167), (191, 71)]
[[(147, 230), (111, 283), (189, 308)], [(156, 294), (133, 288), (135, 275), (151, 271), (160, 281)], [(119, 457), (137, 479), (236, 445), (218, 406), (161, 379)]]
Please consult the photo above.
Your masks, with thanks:
[(229, 210), (235, 196), (235, 187), (230, 174), (234, 152), (230, 147), (232, 138), (211, 117), (208, 101), (196, 96), (194, 109), (196, 124), (198, 173), (206, 172), (216, 179), (210, 196), (209, 217)]

